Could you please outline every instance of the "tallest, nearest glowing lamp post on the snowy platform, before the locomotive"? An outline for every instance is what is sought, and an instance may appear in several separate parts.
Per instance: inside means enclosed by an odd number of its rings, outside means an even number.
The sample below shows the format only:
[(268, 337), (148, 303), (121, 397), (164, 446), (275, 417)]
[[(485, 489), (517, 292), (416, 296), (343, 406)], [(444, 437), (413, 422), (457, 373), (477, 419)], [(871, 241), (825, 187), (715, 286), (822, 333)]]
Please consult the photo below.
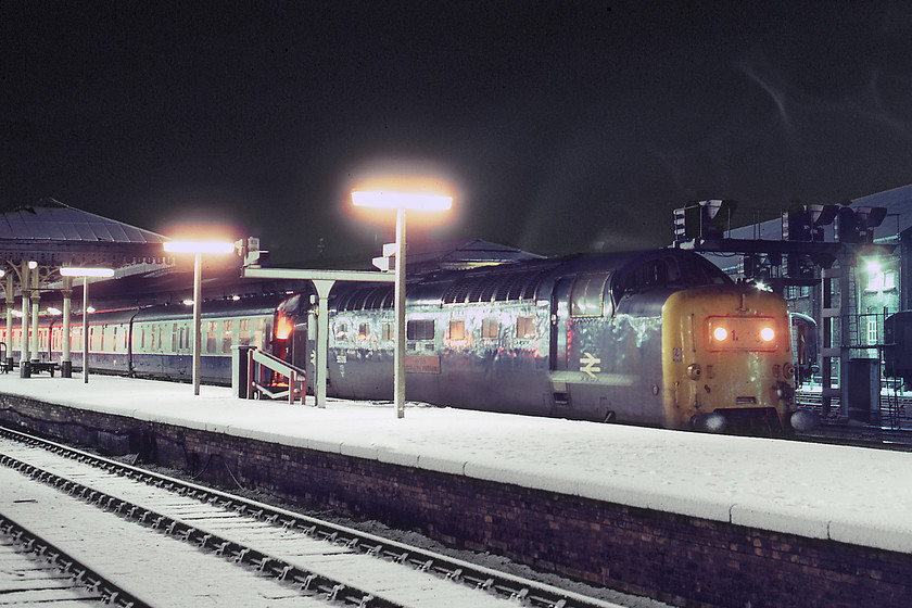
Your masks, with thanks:
[[(355, 190), (352, 203), (363, 207), (396, 210), (396, 263), (395, 263), (395, 354), (393, 360), (393, 403), (396, 417), (405, 417), (405, 212), (446, 211), (453, 206), (453, 197), (432, 192), (407, 190)], [(322, 365), (322, 364), (321, 364)]]

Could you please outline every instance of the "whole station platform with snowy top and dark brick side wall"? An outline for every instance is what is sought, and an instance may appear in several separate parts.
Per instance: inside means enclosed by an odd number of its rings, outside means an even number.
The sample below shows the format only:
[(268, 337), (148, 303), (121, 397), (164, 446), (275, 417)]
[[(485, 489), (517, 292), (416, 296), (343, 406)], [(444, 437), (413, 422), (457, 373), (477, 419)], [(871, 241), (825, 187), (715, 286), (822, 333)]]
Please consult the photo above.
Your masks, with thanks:
[(909, 453), (111, 377), (2, 376), (0, 423), (671, 604), (912, 593)]

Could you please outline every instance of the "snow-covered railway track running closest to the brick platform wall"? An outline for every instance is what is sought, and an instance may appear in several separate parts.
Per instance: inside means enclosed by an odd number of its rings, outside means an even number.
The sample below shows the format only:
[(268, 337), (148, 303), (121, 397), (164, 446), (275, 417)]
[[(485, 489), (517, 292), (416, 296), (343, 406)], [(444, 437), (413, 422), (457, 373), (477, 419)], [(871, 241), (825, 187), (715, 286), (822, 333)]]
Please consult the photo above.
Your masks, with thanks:
[(619, 606), (2, 428), (0, 465), (122, 525), (139, 523), (160, 542), (167, 536), (210, 560), (245, 566), (274, 582), (262, 593), (286, 598), (281, 606), (299, 605), (290, 590), (360, 607)]

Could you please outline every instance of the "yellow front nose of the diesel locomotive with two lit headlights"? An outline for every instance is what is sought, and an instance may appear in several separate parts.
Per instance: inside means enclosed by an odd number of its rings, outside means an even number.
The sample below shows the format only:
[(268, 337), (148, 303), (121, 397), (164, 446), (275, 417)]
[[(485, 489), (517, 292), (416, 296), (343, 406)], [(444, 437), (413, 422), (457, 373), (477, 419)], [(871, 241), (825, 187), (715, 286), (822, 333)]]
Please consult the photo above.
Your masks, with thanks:
[(794, 366), (785, 301), (746, 286), (680, 291), (662, 308), (666, 426), (789, 428)]

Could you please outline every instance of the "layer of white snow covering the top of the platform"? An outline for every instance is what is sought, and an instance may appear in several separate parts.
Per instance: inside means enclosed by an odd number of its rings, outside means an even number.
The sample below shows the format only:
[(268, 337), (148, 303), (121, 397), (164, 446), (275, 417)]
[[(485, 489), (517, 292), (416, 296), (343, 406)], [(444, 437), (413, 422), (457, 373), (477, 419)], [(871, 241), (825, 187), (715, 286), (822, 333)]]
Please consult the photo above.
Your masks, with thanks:
[[(912, 553), (912, 454), (409, 404), (244, 401), (125, 378), (0, 377), (0, 392), (384, 463)], [(307, 398), (313, 403), (313, 397)]]

